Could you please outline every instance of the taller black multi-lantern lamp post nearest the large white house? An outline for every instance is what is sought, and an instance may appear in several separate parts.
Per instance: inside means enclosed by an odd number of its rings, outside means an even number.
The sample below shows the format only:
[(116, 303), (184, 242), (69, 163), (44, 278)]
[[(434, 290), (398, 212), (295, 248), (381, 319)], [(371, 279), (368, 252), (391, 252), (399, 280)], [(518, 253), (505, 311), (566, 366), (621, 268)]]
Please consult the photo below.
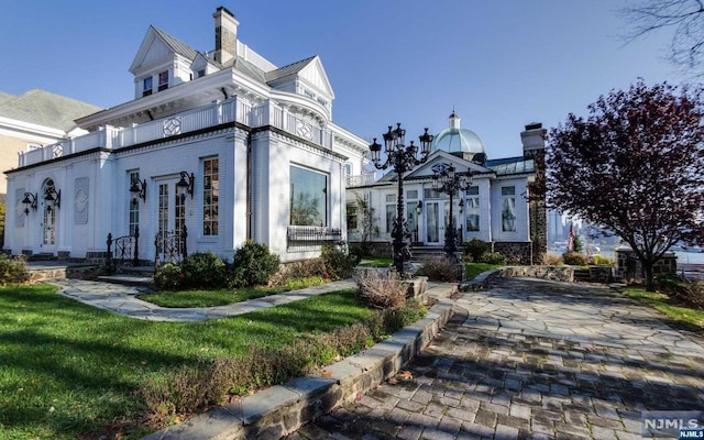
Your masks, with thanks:
[[(410, 144), (406, 145), (406, 130), (400, 128), (400, 122), (396, 125), (396, 130), (392, 129), (392, 125), (389, 125), (388, 132), (384, 133), (386, 161), (384, 163), (381, 162), (380, 153), (382, 145), (376, 143), (376, 138), (374, 138), (374, 143), (370, 145), (370, 152), (372, 153), (372, 162), (374, 162), (376, 169), (393, 167), (396, 173), (396, 179), (398, 180), (396, 220), (394, 220), (392, 238), (394, 239), (394, 267), (399, 275), (403, 275), (404, 263), (410, 258), (410, 250), (404, 242), (404, 239), (410, 238), (408, 223), (404, 218), (404, 173), (428, 161), (432, 134), (428, 134), (428, 129), (426, 128), (426, 132), (418, 136), (420, 141), (419, 151), (418, 145), (414, 145), (414, 141), (410, 141)], [(420, 153), (420, 155), (418, 155), (418, 153)]]

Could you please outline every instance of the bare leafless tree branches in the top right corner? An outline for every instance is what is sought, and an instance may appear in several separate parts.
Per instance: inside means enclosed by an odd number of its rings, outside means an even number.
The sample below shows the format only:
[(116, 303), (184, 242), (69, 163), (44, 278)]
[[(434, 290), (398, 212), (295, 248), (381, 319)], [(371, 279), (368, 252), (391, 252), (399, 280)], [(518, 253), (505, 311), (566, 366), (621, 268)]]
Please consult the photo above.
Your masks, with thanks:
[(668, 58), (693, 77), (704, 76), (704, 0), (641, 0), (620, 10), (632, 26), (632, 42), (646, 34), (671, 30)]

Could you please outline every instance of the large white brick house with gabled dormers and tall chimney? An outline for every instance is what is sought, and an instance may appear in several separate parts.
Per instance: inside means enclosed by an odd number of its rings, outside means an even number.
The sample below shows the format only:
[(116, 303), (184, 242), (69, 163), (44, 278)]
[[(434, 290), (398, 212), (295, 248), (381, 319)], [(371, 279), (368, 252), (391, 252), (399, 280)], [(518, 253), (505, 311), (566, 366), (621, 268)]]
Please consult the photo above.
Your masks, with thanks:
[(215, 51), (150, 26), (130, 72), (134, 100), (79, 118), (89, 133), (26, 152), (8, 176), (4, 249), (103, 255), (136, 235), (142, 261), (246, 240), (283, 262), (345, 238), (345, 175), (367, 142), (332, 121), (318, 56), (277, 67), (238, 38), (226, 8)]

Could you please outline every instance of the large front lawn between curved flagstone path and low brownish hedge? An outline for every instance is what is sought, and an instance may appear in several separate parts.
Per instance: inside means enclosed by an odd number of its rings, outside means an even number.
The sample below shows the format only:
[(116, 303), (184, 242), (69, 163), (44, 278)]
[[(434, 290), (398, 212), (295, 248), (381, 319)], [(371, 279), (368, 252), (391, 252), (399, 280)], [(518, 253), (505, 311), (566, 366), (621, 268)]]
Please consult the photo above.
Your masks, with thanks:
[(0, 288), (0, 439), (12, 440), (140, 438), (147, 432), (136, 391), (145, 377), (250, 344), (280, 346), (371, 312), (345, 290), (230, 319), (153, 322), (47, 285)]

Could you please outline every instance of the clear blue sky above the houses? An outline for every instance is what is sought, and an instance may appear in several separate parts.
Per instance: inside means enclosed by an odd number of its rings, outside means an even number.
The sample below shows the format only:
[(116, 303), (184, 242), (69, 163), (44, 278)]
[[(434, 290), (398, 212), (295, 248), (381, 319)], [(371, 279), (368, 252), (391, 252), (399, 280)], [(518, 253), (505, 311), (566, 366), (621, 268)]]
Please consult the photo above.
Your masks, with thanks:
[[(635, 0), (637, 1), (637, 0)], [(99, 107), (133, 99), (129, 73), (150, 25), (215, 48), (212, 13), (277, 66), (321, 57), (333, 121), (367, 140), (402, 122), (407, 141), (454, 110), (490, 158), (521, 155), (520, 132), (550, 129), (613, 89), (680, 85), (659, 32), (626, 44), (624, 0), (0, 0), (0, 91), (41, 88)]]

